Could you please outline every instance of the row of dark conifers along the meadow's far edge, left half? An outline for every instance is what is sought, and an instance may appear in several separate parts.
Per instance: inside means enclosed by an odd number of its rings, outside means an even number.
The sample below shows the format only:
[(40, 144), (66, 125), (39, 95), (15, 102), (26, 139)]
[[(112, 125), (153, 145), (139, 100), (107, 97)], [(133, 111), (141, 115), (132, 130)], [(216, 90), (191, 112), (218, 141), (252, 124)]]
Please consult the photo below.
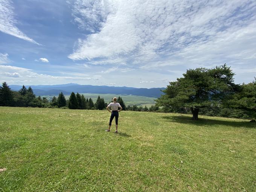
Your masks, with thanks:
[[(123, 110), (126, 110), (125, 103), (120, 96), (117, 98), (117, 102), (120, 103)], [(6, 82), (2, 83), (2, 87), (0, 86), (0, 106), (103, 110), (107, 105), (104, 98), (100, 98), (100, 96), (94, 103), (91, 98), (85, 98), (83, 94), (72, 92), (69, 99), (66, 99), (61, 92), (58, 97), (53, 96), (49, 101), (46, 97), (37, 97), (31, 87), (26, 88), (23, 85), (19, 91), (12, 91)]]

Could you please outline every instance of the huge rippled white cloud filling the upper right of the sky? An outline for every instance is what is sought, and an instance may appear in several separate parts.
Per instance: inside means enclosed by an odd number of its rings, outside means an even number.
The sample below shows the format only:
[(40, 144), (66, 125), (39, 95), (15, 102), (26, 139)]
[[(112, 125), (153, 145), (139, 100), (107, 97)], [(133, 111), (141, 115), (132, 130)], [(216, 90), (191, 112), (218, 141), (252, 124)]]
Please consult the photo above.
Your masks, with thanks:
[(77, 0), (73, 16), (87, 35), (70, 59), (183, 72), (255, 63), (255, 1)]

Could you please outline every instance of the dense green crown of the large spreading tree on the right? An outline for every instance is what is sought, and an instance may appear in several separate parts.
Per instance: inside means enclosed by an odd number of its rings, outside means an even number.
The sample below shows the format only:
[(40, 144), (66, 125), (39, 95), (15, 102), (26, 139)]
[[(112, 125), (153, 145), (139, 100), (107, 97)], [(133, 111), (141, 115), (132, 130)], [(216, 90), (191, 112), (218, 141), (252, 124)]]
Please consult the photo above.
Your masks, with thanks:
[(189, 69), (183, 78), (170, 82), (163, 91), (165, 94), (156, 100), (157, 105), (174, 111), (182, 107), (193, 109), (219, 105), (238, 89), (238, 85), (233, 83), (233, 75), (226, 64), (214, 69)]

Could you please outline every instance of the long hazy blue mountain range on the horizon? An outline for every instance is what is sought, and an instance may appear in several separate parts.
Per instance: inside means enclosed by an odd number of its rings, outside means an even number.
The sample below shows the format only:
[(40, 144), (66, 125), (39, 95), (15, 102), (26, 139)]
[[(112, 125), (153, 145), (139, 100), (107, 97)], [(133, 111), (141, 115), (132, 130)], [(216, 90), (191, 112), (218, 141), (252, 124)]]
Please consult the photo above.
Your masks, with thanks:
[[(79, 84), (62, 84), (62, 85), (26, 85), (32, 87), (36, 95), (57, 95), (75, 93), (96, 93), (96, 94), (131, 94), (146, 97), (160, 97), (165, 87), (160, 88), (135, 88), (135, 87), (114, 87), (98, 85), (79, 85)], [(10, 85), (12, 90), (19, 90), (21, 85)]]

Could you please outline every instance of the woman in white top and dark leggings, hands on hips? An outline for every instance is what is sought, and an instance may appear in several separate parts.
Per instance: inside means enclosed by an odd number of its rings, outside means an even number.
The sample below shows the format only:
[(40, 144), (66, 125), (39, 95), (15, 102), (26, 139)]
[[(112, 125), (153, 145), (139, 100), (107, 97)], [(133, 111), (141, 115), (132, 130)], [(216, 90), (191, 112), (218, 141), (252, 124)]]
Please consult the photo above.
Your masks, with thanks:
[[(107, 107), (107, 110), (111, 113), (111, 116), (110, 116), (110, 120), (109, 120), (109, 126), (108, 126), (108, 129), (107, 129), (106, 131), (110, 131), (111, 123), (112, 123), (112, 121), (113, 121), (113, 119), (114, 119), (114, 117), (115, 117), (115, 119), (116, 119), (116, 131), (115, 131), (115, 133), (118, 133), (118, 132), (117, 132), (117, 128), (118, 128), (118, 116), (119, 116), (119, 113), (118, 113), (118, 112), (119, 112), (119, 111), (122, 111), (123, 108), (121, 107), (121, 105), (120, 105), (119, 103), (116, 102), (116, 100), (117, 100), (117, 98), (114, 97), (114, 98), (113, 98), (113, 102), (110, 103), (110, 104), (108, 105), (108, 107)], [(111, 110), (112, 110), (112, 111), (110, 111), (109, 107), (111, 107)], [(118, 110), (119, 107), (120, 107), (120, 110)]]

